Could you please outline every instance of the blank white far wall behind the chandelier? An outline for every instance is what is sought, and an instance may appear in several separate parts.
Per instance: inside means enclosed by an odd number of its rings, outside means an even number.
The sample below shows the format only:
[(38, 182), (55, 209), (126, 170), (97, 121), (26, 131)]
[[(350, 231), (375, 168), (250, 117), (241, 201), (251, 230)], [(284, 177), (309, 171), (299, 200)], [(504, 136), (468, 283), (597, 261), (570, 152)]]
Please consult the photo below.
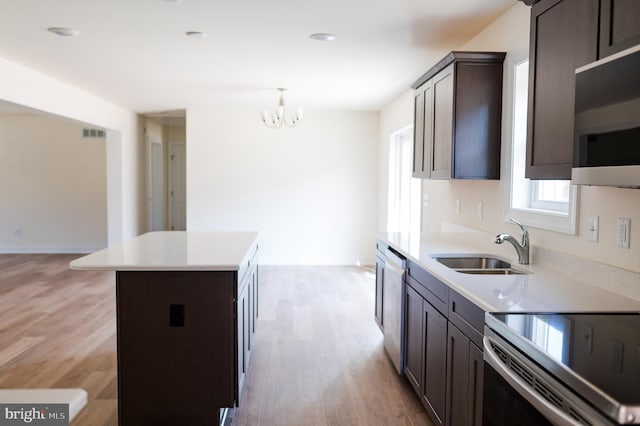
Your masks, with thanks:
[(187, 110), (187, 229), (261, 232), (264, 264), (373, 263), (378, 114)]

